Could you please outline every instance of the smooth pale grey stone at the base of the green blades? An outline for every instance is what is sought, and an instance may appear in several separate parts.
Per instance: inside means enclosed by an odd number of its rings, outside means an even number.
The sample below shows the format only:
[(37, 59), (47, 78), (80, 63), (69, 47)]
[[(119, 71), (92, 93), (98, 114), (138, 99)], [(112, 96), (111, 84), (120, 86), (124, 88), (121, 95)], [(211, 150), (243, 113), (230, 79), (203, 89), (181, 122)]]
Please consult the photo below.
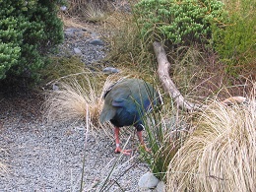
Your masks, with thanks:
[(159, 182), (160, 180), (152, 172), (147, 172), (142, 175), (138, 185), (140, 191), (147, 191), (156, 188)]

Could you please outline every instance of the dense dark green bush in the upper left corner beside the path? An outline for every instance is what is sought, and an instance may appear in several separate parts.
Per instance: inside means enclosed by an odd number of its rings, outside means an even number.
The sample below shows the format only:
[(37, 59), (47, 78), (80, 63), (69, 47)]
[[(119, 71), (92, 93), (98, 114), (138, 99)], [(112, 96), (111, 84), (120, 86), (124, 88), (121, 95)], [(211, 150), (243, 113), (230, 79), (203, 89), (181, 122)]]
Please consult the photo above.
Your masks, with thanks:
[(0, 0), (0, 80), (38, 77), (45, 55), (63, 39), (57, 0)]

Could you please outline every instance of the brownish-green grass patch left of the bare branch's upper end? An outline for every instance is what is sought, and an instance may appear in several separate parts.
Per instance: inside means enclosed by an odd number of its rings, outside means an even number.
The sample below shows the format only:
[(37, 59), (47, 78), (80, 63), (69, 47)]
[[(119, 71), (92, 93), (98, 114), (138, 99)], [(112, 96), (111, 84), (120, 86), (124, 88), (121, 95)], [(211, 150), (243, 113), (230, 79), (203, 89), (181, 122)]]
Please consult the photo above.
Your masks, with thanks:
[(114, 12), (105, 19), (103, 33), (110, 46), (107, 60), (147, 78), (155, 73), (155, 59), (153, 52), (148, 50), (152, 44), (146, 44), (139, 32), (135, 18), (130, 13)]

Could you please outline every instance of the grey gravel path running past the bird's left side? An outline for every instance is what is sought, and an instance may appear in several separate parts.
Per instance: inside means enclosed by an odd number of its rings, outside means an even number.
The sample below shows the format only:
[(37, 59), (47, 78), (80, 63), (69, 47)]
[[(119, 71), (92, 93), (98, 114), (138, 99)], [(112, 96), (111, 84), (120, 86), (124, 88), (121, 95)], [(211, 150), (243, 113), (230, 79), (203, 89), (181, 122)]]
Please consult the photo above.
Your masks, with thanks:
[[(66, 35), (76, 44), (63, 47), (71, 53), (74, 47), (80, 48), (85, 62), (103, 58), (104, 47), (83, 43), (89, 42), (90, 37), (79, 32), (72, 37)], [(40, 120), (42, 100), (41, 96), (32, 93), (0, 96), (0, 147), (4, 149), (0, 152), (0, 160), (9, 165), (9, 172), (0, 178), (1, 192), (79, 191), (84, 155), (84, 191), (98, 191), (100, 184), (91, 187), (102, 183), (116, 160), (115, 171), (107, 180), (107, 186), (112, 186), (103, 191), (138, 191), (138, 179), (148, 171), (147, 165), (139, 162), (137, 156), (119, 160), (113, 153), (113, 139), (106, 136), (89, 135), (85, 148), (83, 122), (76, 125), (43, 124)]]

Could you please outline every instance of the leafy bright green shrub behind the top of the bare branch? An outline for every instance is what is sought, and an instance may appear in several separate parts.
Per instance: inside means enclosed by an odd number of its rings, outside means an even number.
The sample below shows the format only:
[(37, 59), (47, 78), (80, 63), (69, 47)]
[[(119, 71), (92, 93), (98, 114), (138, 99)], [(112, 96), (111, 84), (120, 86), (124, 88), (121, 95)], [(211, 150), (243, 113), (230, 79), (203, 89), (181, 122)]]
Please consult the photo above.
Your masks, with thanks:
[(134, 14), (145, 39), (153, 35), (187, 44), (211, 38), (211, 24), (224, 20), (223, 8), (218, 0), (142, 0)]

